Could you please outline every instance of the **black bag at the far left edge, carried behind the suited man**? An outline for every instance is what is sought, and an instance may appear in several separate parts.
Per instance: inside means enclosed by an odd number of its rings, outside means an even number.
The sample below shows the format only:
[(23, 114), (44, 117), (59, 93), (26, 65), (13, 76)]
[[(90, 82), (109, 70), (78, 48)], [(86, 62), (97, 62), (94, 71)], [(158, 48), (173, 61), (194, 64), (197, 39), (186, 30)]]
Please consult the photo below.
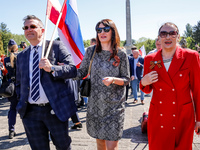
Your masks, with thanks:
[(13, 82), (3, 82), (1, 88), (0, 88), (0, 96), (3, 97), (11, 97), (14, 95), (15, 91), (15, 85)]

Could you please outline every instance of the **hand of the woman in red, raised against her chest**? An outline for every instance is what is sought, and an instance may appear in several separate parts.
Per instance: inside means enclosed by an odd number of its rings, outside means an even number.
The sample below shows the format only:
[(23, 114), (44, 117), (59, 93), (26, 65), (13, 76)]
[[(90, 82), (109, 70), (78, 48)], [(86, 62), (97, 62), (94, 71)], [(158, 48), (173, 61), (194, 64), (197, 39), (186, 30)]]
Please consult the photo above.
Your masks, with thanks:
[(155, 83), (157, 81), (158, 81), (158, 73), (156, 71), (151, 71), (142, 78), (141, 84), (143, 86), (146, 86)]

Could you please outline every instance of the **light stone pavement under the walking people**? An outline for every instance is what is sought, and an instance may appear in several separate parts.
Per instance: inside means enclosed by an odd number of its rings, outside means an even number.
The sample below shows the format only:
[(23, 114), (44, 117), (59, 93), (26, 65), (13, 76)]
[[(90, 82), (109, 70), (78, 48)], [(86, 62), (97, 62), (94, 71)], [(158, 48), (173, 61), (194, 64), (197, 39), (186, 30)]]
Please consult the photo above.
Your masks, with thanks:
[[(139, 93), (138, 93), (139, 94)], [(133, 104), (133, 99), (129, 97), (126, 104), (126, 115), (123, 137), (119, 141), (119, 150), (148, 150), (148, 139), (146, 134), (141, 133), (140, 121), (142, 113), (148, 111), (150, 97), (145, 95), (145, 105), (141, 105), (140, 101)], [(7, 99), (0, 100), (0, 150), (30, 150), (24, 128), (17, 115), (16, 133), (13, 139), (8, 139), (8, 120), (7, 113), (9, 102)], [(83, 124), (81, 130), (69, 129), (72, 138), (72, 150), (96, 150), (96, 141), (86, 132), (86, 107), (79, 108), (79, 117)], [(69, 126), (72, 126), (69, 120)], [(51, 150), (55, 150), (54, 145), (50, 142)], [(193, 150), (200, 150), (200, 138), (194, 135)]]

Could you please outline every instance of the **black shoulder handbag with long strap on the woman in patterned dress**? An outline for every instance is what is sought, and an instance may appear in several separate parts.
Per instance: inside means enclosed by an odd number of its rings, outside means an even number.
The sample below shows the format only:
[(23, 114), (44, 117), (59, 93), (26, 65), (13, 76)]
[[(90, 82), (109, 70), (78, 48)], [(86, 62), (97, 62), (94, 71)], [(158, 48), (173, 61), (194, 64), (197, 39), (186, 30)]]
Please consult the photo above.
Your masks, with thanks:
[(81, 85), (80, 85), (80, 94), (81, 94), (81, 97), (89, 97), (90, 96), (90, 91), (91, 91), (90, 71), (91, 71), (92, 61), (93, 61), (94, 55), (96, 53), (95, 47), (96, 46), (94, 46), (93, 51), (92, 51), (92, 55), (91, 55), (91, 59), (90, 59), (90, 66), (89, 66), (89, 69), (88, 69), (87, 78), (85, 78), (82, 81)]

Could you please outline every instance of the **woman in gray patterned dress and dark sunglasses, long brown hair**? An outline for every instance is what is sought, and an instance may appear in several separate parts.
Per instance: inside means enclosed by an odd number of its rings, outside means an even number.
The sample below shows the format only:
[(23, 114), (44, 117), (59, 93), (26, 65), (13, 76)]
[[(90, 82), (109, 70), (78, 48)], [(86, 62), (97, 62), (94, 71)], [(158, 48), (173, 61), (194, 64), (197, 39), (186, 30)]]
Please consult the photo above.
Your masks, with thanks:
[[(125, 87), (129, 83), (127, 55), (120, 48), (120, 38), (112, 20), (97, 23), (96, 53), (91, 67), (91, 93), (87, 105), (87, 132), (96, 138), (98, 150), (118, 150), (122, 137)], [(78, 69), (77, 79), (87, 75), (94, 46), (87, 49)]]

